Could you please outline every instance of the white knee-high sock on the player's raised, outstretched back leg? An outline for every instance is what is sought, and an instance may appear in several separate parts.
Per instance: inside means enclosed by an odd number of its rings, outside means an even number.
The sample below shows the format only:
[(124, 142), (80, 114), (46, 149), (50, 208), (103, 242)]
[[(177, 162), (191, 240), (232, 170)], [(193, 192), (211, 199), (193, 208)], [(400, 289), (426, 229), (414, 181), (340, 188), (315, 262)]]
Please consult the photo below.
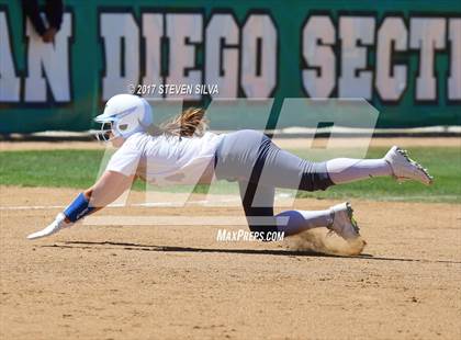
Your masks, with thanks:
[(384, 159), (335, 158), (328, 160), (326, 167), (335, 184), (392, 175), (391, 166)]

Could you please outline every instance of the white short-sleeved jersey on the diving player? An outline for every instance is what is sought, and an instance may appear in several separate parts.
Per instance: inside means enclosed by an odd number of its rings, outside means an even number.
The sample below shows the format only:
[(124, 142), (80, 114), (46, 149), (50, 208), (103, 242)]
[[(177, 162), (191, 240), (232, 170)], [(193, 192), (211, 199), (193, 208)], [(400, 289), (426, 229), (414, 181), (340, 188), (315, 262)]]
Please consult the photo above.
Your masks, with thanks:
[(205, 133), (202, 137), (130, 136), (110, 159), (106, 170), (136, 174), (156, 185), (195, 184), (224, 135)]

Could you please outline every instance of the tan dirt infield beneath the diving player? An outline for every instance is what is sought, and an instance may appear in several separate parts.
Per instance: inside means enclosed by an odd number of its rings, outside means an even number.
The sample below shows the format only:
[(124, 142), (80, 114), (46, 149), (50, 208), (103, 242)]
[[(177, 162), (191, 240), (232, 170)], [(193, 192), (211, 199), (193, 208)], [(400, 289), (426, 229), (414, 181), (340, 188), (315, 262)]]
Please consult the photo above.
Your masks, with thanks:
[[(59, 211), (47, 206), (77, 192), (0, 192), (1, 339), (461, 336), (460, 205), (352, 201), (368, 247), (359, 257), (331, 257), (280, 242), (218, 242), (220, 227), (207, 225), (82, 225), (27, 241)], [(333, 203), (299, 200), (296, 207)], [(240, 213), (187, 206), (104, 214)]]

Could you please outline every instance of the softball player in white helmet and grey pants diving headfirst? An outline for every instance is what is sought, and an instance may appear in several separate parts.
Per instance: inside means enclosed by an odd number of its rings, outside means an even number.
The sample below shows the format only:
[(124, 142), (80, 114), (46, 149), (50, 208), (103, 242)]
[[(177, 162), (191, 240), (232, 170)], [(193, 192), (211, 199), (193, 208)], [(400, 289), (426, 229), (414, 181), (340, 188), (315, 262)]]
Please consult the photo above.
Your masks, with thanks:
[(29, 239), (49, 236), (103, 208), (130, 189), (136, 177), (158, 185), (211, 183), (216, 179), (238, 182), (248, 226), (261, 240), (268, 231), (291, 236), (318, 227), (346, 240), (359, 237), (349, 203), (324, 211), (285, 211), (274, 215), (276, 188), (316, 191), (374, 177), (427, 185), (432, 182), (427, 170), (396, 146), (380, 159), (312, 162), (280, 149), (256, 131), (220, 135), (206, 132), (202, 109), (188, 109), (157, 126), (147, 101), (131, 94), (111, 98), (95, 122), (102, 124), (100, 137), (117, 148), (105, 172), (49, 226)]

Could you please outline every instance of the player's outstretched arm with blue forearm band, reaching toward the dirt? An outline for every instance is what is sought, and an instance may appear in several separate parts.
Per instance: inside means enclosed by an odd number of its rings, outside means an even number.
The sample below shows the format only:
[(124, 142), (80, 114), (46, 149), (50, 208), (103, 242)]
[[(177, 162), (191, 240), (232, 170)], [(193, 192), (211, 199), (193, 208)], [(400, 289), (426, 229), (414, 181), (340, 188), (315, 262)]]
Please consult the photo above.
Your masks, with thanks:
[(104, 172), (94, 185), (80, 193), (63, 213), (56, 216), (50, 225), (45, 229), (29, 235), (27, 238), (42, 238), (72, 226), (85, 216), (114, 202), (132, 185), (133, 179), (133, 175), (126, 177), (115, 171)]

